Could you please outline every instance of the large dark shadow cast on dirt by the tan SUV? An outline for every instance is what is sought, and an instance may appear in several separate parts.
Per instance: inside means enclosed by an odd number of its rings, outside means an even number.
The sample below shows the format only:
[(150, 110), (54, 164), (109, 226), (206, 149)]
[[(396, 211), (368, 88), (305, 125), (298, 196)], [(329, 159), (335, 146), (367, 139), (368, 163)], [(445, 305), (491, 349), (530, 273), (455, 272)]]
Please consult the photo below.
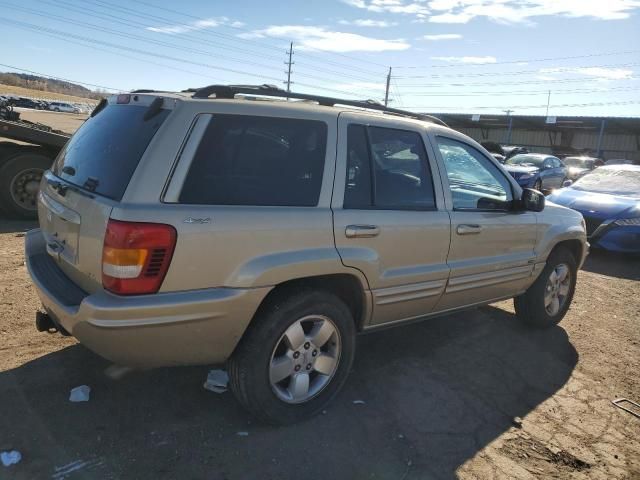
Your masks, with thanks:
[[(114, 381), (105, 361), (75, 345), (0, 373), (0, 450), (24, 456), (3, 474), (454, 478), (514, 417), (551, 397), (577, 360), (561, 328), (532, 332), (484, 307), (363, 335), (326, 413), (274, 428), (255, 424), (231, 393), (205, 391), (206, 367)], [(70, 388), (82, 384), (91, 400), (70, 403)]]

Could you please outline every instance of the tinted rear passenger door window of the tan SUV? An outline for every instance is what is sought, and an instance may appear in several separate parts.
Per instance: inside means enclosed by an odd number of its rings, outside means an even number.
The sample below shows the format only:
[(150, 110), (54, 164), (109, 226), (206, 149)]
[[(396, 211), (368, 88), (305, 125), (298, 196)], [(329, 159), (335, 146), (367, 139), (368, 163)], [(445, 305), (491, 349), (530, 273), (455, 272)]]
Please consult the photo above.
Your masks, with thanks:
[(419, 134), (350, 125), (347, 137), (345, 208), (435, 208), (427, 154)]

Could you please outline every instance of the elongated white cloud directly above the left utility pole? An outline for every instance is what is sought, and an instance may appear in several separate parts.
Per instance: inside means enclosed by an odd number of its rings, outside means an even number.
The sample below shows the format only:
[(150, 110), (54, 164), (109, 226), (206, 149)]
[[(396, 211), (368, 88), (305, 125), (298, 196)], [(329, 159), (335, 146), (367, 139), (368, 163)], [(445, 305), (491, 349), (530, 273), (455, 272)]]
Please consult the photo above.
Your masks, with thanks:
[(241, 33), (238, 36), (241, 38), (279, 37), (292, 39), (298, 49), (307, 48), (328, 52), (399, 51), (411, 47), (403, 39), (384, 40), (306, 25), (272, 25), (251, 33)]

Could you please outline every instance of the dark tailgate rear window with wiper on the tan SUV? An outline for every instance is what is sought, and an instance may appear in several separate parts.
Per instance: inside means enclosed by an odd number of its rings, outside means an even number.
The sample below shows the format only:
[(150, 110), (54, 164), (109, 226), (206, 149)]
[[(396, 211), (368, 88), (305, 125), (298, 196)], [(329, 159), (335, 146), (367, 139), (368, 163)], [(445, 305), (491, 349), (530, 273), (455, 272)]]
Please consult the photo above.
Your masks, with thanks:
[(58, 155), (53, 173), (86, 190), (120, 200), (142, 154), (169, 110), (145, 120), (142, 105), (107, 105), (89, 118)]

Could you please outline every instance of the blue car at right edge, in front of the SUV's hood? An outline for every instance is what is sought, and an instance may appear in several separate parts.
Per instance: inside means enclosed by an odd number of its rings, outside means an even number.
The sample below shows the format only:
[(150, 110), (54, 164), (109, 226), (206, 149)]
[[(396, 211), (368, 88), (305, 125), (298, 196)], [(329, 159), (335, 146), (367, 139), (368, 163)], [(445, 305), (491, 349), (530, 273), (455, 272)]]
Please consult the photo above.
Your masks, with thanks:
[(582, 213), (593, 247), (640, 253), (640, 166), (596, 168), (547, 200)]

